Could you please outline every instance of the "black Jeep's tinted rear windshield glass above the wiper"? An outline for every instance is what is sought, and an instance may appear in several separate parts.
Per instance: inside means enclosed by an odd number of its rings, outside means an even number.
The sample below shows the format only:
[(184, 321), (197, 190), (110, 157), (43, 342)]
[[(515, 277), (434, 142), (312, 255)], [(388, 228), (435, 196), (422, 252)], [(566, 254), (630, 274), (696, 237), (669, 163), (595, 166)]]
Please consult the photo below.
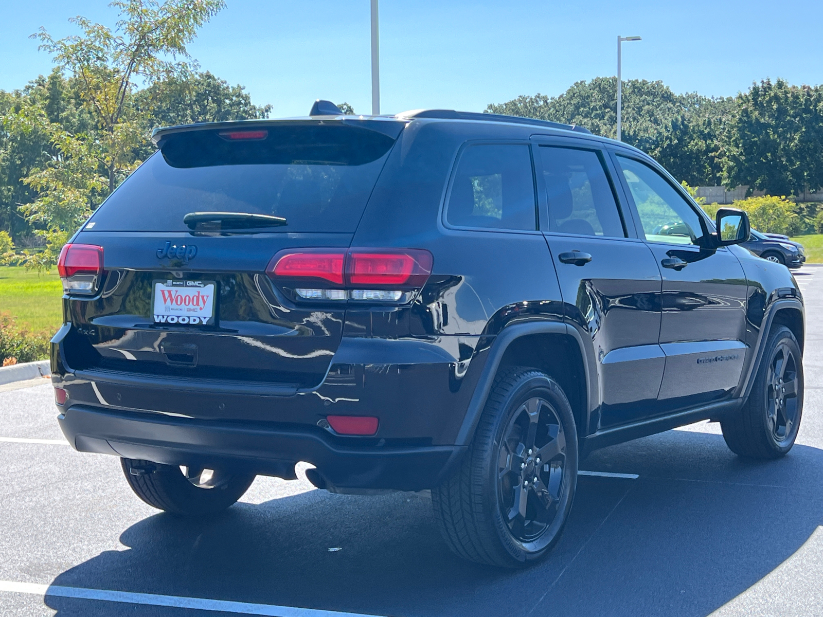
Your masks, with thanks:
[(341, 126), (172, 135), (100, 206), (95, 231), (188, 231), (190, 212), (281, 216), (268, 232), (353, 232), (393, 137)]

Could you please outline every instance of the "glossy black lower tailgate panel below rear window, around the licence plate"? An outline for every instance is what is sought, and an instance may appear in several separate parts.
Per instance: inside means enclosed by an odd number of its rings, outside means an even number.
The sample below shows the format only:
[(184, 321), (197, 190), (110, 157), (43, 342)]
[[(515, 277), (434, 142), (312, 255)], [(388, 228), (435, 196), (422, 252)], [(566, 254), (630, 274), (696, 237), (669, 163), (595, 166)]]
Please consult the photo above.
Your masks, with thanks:
[[(67, 303), (67, 317), (95, 351), (72, 358), (69, 364), (130, 373), (317, 385), (340, 343), (344, 309), (284, 306), (265, 270), (282, 248), (347, 247), (351, 234), (272, 236), (81, 233), (77, 242), (104, 248), (106, 274), (98, 297)], [(156, 256), (166, 243), (195, 247), (197, 255), (170, 268), (168, 258)], [(198, 291), (213, 289), (212, 319), (183, 324), (175, 317), (175, 323), (170, 323), (162, 310), (164, 294), (155, 304), (152, 301), (165, 290), (170, 290), (165, 293), (170, 299), (175, 283)]]

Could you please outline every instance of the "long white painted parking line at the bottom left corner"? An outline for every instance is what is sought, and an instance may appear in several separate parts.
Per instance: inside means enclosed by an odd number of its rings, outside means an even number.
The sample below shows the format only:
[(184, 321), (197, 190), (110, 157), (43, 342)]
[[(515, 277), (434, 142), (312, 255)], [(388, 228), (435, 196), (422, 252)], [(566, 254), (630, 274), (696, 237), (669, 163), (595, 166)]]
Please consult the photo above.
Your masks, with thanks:
[(150, 606), (170, 606), (179, 609), (212, 610), (222, 611), (224, 613), (239, 613), (241, 615), (272, 615), (272, 617), (372, 617), (371, 615), (363, 615), (361, 613), (341, 613), (337, 610), (301, 609), (295, 606), (208, 600), (206, 598), (190, 598), (186, 596), (160, 596), (154, 593), (136, 593), (133, 591), (109, 591), (107, 589), (86, 589), (85, 587), (40, 585), (34, 582), (0, 581), (0, 591), (27, 593), (33, 596), (101, 600)]

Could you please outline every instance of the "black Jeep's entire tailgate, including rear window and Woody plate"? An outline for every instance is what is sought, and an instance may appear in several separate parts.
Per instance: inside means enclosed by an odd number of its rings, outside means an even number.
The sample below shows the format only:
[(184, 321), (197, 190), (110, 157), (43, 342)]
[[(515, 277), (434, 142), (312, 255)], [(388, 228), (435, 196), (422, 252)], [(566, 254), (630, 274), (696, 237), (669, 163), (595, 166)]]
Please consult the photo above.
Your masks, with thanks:
[[(295, 304), (267, 264), (287, 248), (349, 247), (403, 124), (226, 126), (161, 132), (162, 151), (72, 239), (102, 247), (105, 269), (93, 297), (66, 297), (72, 369), (282, 392), (322, 382), (345, 302)], [(238, 228), (217, 216), (189, 228), (193, 212), (285, 224)]]

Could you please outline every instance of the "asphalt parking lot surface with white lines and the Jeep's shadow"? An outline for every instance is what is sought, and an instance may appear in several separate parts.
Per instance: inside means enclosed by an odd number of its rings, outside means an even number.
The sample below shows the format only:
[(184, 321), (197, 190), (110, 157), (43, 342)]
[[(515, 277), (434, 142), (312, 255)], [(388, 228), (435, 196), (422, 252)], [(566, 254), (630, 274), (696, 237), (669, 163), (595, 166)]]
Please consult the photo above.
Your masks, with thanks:
[(823, 267), (796, 276), (806, 400), (792, 452), (745, 462), (709, 423), (595, 452), (582, 469), (626, 476), (582, 476), (556, 550), (523, 572), (453, 557), (427, 492), (258, 478), (207, 522), (158, 513), (114, 457), (67, 446), (48, 383), (7, 389), (0, 615), (821, 615)]

